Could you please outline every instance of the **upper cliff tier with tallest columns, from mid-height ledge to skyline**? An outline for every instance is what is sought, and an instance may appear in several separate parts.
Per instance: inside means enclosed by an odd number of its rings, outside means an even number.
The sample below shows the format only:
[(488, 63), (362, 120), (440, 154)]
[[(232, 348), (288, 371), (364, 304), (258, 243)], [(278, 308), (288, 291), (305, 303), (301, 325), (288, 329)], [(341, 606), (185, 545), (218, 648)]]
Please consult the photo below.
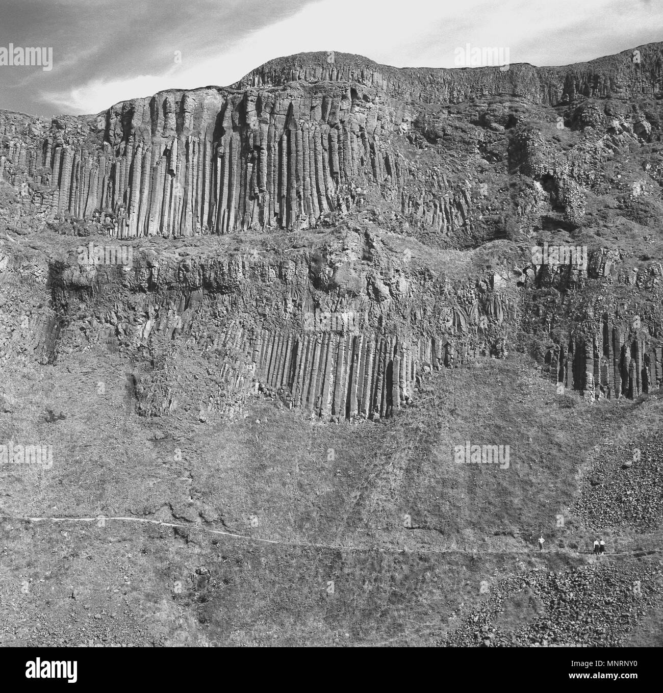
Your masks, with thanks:
[[(485, 224), (486, 210), (472, 217), (471, 188), (476, 166), (492, 159), (475, 125), (513, 132), (512, 159), (531, 140), (513, 130), (527, 120), (518, 103), (538, 108), (535, 120), (577, 129), (586, 125), (578, 104), (603, 99), (599, 119), (619, 120), (623, 110), (622, 120), (634, 121), (627, 128), (651, 130), (637, 103), (663, 96), (662, 66), (663, 43), (566, 67), (504, 70), (397, 69), (346, 53), (302, 53), (232, 87), (161, 91), (97, 116), (49, 123), (0, 113), (0, 178), (24, 186), (33, 216), (36, 207), (46, 220), (105, 224), (121, 238), (301, 229), (368, 194), (410, 227), (459, 244)], [(454, 105), (488, 108), (491, 97), (499, 114), (454, 116)], [(580, 198), (567, 174), (584, 185), (591, 161), (555, 166), (538, 175), (554, 177), (575, 223)]]

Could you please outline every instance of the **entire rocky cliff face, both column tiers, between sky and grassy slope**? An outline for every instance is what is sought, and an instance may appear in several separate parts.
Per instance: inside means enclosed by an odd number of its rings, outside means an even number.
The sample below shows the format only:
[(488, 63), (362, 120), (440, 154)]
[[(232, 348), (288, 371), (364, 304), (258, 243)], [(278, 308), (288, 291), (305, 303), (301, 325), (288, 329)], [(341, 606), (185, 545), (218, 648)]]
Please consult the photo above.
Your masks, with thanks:
[[(73, 247), (51, 261), (37, 358), (109, 337), (164, 363), (213, 356), (204, 382), (145, 368), (150, 414), (234, 415), (265, 392), (326, 419), (388, 416), (432, 369), (513, 348), (588, 398), (653, 392), (662, 61), (663, 44), (508, 70), (309, 53), (98, 116), (0, 114), (10, 230), (134, 250), (130, 267)], [(587, 262), (536, 261), (544, 240)], [(6, 275), (23, 271), (3, 247)], [(5, 360), (26, 315), (6, 321)]]

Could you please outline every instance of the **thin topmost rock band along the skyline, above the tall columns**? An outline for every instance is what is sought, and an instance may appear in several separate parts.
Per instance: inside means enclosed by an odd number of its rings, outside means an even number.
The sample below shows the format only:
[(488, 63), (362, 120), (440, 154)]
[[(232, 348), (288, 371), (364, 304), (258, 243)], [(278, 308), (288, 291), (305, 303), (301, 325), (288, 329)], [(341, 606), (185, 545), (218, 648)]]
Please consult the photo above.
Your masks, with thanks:
[(564, 67), (513, 64), (509, 69), (396, 68), (348, 53), (299, 53), (270, 60), (237, 82), (235, 89), (277, 87), (290, 82), (353, 82), (414, 103), (450, 104), (472, 96), (524, 96), (557, 105), (578, 97), (637, 98), (663, 89), (661, 44)]

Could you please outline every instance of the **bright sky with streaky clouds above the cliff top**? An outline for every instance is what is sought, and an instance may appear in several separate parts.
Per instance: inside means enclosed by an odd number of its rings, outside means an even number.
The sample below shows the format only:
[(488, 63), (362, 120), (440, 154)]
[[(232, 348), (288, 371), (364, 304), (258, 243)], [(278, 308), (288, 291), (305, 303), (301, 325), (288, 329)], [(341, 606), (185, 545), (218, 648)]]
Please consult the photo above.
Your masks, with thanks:
[[(663, 0), (0, 0), (0, 49), (53, 48), (53, 69), (0, 65), (0, 107), (97, 113), (161, 89), (229, 85), (263, 62), (342, 51), (454, 67), (454, 49), (561, 65), (663, 40)], [(182, 62), (175, 62), (175, 51)]]

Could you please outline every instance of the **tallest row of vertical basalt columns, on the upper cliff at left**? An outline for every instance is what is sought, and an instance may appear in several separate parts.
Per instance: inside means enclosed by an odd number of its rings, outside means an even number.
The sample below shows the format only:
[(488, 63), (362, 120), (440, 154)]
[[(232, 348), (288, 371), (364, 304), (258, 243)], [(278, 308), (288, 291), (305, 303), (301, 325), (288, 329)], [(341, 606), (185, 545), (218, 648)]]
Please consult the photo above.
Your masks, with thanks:
[[(90, 127), (103, 140), (62, 141), (52, 128), (39, 150), (12, 141), (0, 176), (23, 170), (57, 186), (53, 213), (104, 220), (114, 235), (165, 237), (247, 229), (301, 229), (348, 211), (375, 185), (406, 217), (452, 231), (468, 218), (463, 186), (434, 176), (416, 200), (407, 162), (391, 143), (405, 106), (346, 85), (297, 91), (166, 91), (121, 103)], [(10, 128), (5, 126), (9, 135)], [(398, 132), (398, 131), (396, 131)], [(19, 167), (18, 174), (8, 162)], [(52, 171), (52, 173), (51, 173)]]

